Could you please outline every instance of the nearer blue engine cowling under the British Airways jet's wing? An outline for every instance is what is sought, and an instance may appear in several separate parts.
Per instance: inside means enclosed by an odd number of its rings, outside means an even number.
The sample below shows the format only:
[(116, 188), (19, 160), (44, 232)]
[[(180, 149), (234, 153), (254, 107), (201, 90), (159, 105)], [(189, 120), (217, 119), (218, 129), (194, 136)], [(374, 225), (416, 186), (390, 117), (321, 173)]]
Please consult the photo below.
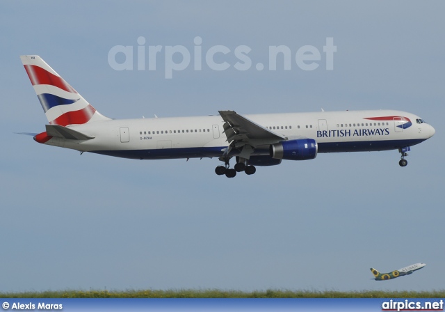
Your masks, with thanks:
[(275, 159), (306, 160), (314, 159), (318, 146), (314, 139), (298, 139), (272, 144), (269, 148), (270, 157)]

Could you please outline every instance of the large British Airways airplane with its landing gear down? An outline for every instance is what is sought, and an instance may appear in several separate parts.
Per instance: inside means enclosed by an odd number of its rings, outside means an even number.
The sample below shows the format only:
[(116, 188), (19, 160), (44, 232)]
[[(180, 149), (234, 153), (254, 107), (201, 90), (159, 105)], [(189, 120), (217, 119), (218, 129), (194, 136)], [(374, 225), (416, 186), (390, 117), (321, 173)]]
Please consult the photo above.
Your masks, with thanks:
[[(233, 178), (255, 166), (314, 159), (318, 153), (407, 151), (435, 134), (405, 111), (324, 111), (216, 116), (111, 119), (99, 113), (38, 55), (20, 56), (47, 116), (38, 143), (130, 159), (218, 157), (216, 174)], [(229, 161), (236, 163), (230, 168)]]

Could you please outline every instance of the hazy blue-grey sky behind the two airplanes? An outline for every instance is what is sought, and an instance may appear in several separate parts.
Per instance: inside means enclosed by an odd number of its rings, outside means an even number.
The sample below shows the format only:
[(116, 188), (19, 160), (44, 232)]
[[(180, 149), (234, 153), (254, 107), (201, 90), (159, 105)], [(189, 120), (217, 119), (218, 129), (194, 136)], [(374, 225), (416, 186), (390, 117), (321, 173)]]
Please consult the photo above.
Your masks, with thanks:
[[(2, 1), (0, 291), (69, 289), (438, 290), (443, 249), (442, 1)], [(182, 45), (231, 50), (227, 70), (113, 70), (108, 52)], [(323, 45), (333, 38), (334, 70)], [(252, 68), (236, 70), (234, 49)], [(268, 47), (312, 45), (256, 70)], [(165, 49), (163, 49), (165, 51)], [(408, 166), (397, 151), (321, 154), (216, 176), (218, 159), (136, 161), (43, 146), (14, 132), (47, 120), (20, 62), (38, 54), (111, 118), (399, 109), (435, 127)], [(122, 56), (122, 55), (121, 55)], [(193, 58), (193, 56), (192, 56)], [(175, 59), (176, 62), (181, 61)], [(135, 63), (136, 64), (136, 63)], [(136, 68), (137, 64), (135, 65)], [(394, 281), (372, 281), (412, 263)]]

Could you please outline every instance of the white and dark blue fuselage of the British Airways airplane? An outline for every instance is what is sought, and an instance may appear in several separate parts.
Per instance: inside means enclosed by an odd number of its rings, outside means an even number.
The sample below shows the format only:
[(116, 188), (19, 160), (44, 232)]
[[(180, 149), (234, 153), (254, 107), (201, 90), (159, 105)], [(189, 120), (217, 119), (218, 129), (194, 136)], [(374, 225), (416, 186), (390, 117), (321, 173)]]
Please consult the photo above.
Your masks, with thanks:
[[(421, 143), (435, 133), (404, 111), (320, 111), (245, 115), (288, 139), (310, 138), (318, 153), (392, 150)], [(409, 120), (409, 122), (408, 122)], [(419, 121), (421, 120), (421, 121)], [(95, 139), (52, 138), (49, 145), (133, 159), (218, 157), (230, 142), (221, 116), (103, 120), (68, 126)], [(232, 155), (239, 151), (232, 150)], [(257, 146), (252, 155), (268, 155)]]

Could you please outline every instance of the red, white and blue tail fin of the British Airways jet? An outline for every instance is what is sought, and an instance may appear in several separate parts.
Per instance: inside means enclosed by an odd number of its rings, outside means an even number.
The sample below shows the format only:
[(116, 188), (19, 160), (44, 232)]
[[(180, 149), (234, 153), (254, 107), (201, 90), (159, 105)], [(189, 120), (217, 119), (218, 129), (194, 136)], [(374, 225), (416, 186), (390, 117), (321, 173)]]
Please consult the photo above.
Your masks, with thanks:
[(81, 125), (109, 120), (96, 111), (77, 91), (67, 84), (38, 55), (20, 56), (37, 94), (44, 114), (51, 125)]

